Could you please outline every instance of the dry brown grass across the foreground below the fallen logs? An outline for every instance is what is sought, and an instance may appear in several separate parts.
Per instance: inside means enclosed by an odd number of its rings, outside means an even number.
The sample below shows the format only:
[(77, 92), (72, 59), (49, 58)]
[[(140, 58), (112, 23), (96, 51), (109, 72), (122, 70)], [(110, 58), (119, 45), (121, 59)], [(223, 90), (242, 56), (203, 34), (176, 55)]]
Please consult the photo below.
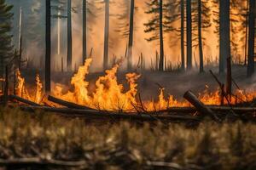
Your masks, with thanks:
[(0, 109), (0, 159), (86, 160), (90, 168), (156, 169), (154, 162), (172, 162), (183, 168), (255, 169), (255, 134), (253, 123), (206, 121), (189, 128), (184, 124), (89, 122)]

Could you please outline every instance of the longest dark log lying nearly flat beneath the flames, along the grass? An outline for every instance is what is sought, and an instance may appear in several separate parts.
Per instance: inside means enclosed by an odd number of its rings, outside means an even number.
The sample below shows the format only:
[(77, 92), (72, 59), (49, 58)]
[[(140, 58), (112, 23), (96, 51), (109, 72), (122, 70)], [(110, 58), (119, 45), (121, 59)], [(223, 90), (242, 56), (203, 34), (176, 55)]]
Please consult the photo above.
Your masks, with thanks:
[(52, 108), (45, 106), (20, 106), (22, 111), (45, 111), (52, 112), (61, 116), (84, 117), (84, 118), (111, 118), (111, 119), (125, 119), (125, 120), (140, 120), (140, 121), (200, 121), (198, 116), (179, 116), (179, 115), (151, 115), (151, 114), (137, 114), (137, 113), (117, 113), (108, 111), (96, 110), (79, 110), (70, 108)]

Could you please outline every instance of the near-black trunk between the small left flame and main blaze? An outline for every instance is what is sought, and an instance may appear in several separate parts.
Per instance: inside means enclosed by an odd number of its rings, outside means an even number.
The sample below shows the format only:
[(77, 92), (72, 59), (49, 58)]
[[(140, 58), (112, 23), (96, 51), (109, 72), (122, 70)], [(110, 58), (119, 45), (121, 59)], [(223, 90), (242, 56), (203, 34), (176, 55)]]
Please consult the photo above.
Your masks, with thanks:
[(45, 93), (50, 93), (50, 0), (46, 0), (45, 3)]

